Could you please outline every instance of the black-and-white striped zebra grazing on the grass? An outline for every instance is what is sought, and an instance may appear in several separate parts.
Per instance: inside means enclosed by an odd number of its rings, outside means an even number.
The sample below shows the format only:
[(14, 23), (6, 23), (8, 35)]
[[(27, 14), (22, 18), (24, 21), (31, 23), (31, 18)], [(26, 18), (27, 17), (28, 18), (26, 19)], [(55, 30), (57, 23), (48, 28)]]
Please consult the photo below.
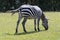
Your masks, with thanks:
[[(48, 20), (45, 17), (45, 15), (40, 7), (38, 7), (36, 5), (24, 4), (24, 5), (21, 5), (18, 9), (12, 10), (11, 12), (15, 12), (15, 11), (19, 11), (19, 13), (18, 13), (19, 16), (18, 16), (15, 33), (18, 33), (18, 25), (22, 18), (24, 18), (23, 22), (22, 22), (24, 32), (27, 32), (25, 29), (25, 23), (26, 23), (27, 19), (29, 19), (29, 18), (34, 19), (34, 30), (35, 31), (40, 31), (40, 29), (39, 29), (40, 19), (42, 20), (42, 25), (45, 28), (45, 30), (48, 30)], [(13, 14), (15, 14), (15, 13), (13, 13)], [(37, 28), (36, 28), (36, 25), (37, 25)]]

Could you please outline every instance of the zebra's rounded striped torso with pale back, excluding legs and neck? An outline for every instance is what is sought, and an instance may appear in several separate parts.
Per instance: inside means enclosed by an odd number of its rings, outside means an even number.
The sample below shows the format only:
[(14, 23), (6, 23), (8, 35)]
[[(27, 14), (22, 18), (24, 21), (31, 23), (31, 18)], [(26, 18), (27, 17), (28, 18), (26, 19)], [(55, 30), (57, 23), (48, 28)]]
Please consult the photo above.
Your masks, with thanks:
[(23, 17), (37, 18), (42, 15), (42, 10), (38, 6), (22, 5), (20, 12)]

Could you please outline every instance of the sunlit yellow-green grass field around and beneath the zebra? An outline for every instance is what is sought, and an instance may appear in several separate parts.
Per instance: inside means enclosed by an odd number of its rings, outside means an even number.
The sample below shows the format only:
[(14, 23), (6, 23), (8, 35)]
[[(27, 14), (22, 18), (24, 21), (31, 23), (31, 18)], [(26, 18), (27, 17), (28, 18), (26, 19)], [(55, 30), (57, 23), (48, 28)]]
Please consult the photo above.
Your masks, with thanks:
[[(26, 22), (28, 33), (24, 33), (20, 23), (18, 35), (14, 35), (18, 14), (11, 16), (11, 13), (0, 13), (0, 40), (60, 40), (60, 12), (44, 13), (49, 19), (49, 29), (47, 31), (35, 32), (33, 19), (28, 19)], [(41, 22), (40, 30), (44, 30)]]

